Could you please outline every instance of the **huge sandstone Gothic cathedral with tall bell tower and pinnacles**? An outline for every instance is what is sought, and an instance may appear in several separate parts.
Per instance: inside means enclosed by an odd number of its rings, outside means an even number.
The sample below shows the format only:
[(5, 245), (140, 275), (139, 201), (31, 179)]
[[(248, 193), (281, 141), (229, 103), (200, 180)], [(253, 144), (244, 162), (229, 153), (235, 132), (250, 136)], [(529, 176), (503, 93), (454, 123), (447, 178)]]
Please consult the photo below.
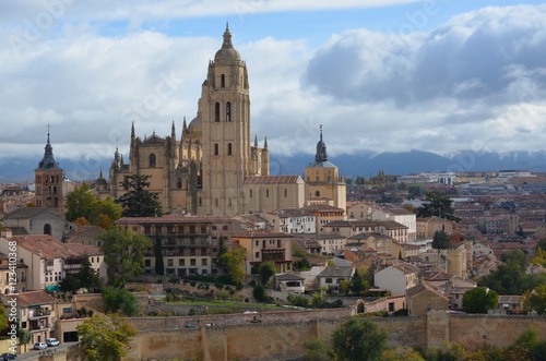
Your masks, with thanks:
[(322, 140), (314, 163), (300, 176), (270, 176), (268, 140), (251, 141), (250, 94), (247, 65), (232, 44), (226, 26), (222, 48), (209, 62), (197, 117), (186, 118), (180, 137), (173, 122), (168, 136), (155, 132), (141, 139), (131, 128), (129, 159), (116, 149), (109, 170), (109, 191), (119, 197), (126, 176), (149, 175), (152, 192), (158, 192), (168, 213), (235, 216), (309, 203), (327, 203), (345, 209), (345, 182), (328, 161)]

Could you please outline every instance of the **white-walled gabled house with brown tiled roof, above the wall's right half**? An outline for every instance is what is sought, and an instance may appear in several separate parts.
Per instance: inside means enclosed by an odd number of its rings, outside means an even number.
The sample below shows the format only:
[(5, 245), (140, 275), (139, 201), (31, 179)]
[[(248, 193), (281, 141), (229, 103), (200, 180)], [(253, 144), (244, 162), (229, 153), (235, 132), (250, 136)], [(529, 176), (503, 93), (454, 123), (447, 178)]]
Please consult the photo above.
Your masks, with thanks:
[(412, 264), (400, 262), (376, 272), (373, 284), (392, 294), (405, 294), (407, 289), (418, 284), (418, 270), (419, 268)]

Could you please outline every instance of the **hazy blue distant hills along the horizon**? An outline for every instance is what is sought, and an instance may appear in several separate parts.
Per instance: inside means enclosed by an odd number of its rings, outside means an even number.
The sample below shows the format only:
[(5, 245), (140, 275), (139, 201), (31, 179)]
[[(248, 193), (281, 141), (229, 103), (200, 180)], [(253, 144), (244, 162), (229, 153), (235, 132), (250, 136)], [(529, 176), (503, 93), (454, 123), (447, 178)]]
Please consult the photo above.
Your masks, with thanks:
[[(59, 165), (64, 168), (67, 177), (71, 180), (96, 179), (100, 167), (105, 178), (111, 158), (108, 159), (81, 159), (70, 160), (56, 157)], [(314, 155), (301, 154), (292, 157), (280, 157), (271, 154), (271, 175), (299, 175), (305, 173), (305, 167), (313, 161)], [(511, 152), (474, 153), (462, 152), (453, 157), (442, 157), (434, 153), (411, 151), (404, 153), (359, 153), (340, 155), (330, 160), (340, 168), (346, 177), (361, 176), (369, 178), (383, 170), (388, 175), (411, 175), (424, 171), (470, 171), (470, 170), (508, 170), (526, 169), (530, 171), (546, 172), (546, 152), (527, 153)], [(0, 160), (0, 183), (33, 182), (34, 169), (39, 159), (4, 158)]]

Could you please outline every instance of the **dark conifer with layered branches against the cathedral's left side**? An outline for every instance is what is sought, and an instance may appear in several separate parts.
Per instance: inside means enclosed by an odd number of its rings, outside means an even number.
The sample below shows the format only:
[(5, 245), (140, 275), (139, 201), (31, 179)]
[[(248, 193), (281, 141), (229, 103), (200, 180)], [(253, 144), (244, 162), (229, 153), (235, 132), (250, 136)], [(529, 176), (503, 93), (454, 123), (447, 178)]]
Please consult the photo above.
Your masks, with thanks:
[(132, 175), (126, 176), (120, 182), (126, 193), (117, 203), (123, 208), (123, 217), (159, 217), (163, 213), (159, 203), (159, 193), (146, 190), (147, 181), (152, 176)]

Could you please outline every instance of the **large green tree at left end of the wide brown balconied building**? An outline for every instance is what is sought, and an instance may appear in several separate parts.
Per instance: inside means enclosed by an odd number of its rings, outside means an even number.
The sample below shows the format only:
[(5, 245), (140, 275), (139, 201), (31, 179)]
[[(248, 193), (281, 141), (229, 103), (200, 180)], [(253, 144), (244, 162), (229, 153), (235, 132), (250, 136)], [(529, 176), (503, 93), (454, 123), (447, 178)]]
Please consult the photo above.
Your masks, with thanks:
[(142, 274), (144, 254), (152, 245), (147, 238), (117, 226), (98, 234), (97, 240), (103, 244), (100, 249), (110, 285), (121, 287), (130, 278)]

